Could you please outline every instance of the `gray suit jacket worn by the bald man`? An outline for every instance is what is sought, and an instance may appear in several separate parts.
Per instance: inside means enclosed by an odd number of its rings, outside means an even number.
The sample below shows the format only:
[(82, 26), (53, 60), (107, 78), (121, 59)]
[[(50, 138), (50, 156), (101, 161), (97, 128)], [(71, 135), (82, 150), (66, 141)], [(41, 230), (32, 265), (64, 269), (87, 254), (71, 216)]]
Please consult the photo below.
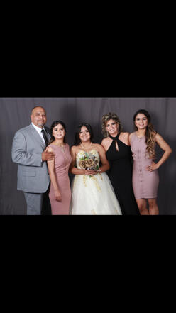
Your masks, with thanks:
[[(49, 128), (45, 127), (48, 139)], [(45, 145), (31, 125), (16, 132), (12, 144), (12, 160), (18, 164), (17, 189), (23, 192), (44, 193), (48, 190), (50, 177), (46, 162), (42, 162)]]

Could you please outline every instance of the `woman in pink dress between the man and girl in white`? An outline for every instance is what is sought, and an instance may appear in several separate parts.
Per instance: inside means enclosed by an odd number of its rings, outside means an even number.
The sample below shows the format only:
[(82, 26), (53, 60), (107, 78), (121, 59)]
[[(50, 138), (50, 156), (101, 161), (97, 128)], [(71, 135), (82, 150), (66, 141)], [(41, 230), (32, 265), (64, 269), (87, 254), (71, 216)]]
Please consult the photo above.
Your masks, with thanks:
[(69, 145), (65, 143), (65, 123), (53, 122), (51, 133), (53, 141), (48, 146), (48, 152), (55, 153), (55, 159), (48, 161), (52, 215), (69, 215), (71, 190), (68, 171), (72, 158)]

